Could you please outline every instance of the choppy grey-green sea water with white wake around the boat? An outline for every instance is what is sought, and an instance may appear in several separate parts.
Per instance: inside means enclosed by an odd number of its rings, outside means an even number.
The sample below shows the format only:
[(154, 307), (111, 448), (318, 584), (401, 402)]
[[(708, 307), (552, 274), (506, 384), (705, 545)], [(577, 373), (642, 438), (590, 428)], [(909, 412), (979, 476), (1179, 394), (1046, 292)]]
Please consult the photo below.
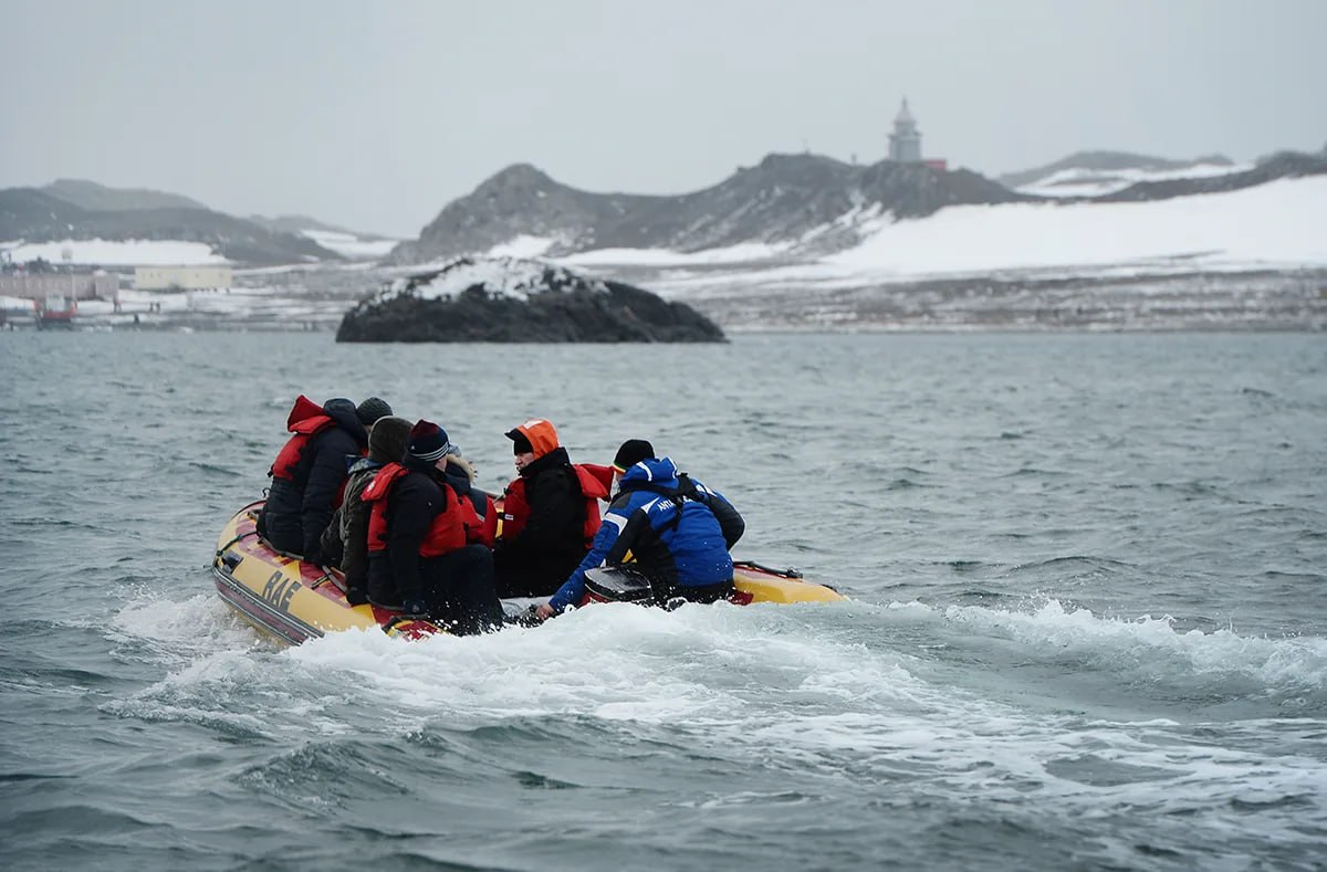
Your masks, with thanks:
[[(283, 648), (295, 395), (652, 439), (852, 602)], [(0, 868), (1320, 869), (1327, 341), (0, 334)]]

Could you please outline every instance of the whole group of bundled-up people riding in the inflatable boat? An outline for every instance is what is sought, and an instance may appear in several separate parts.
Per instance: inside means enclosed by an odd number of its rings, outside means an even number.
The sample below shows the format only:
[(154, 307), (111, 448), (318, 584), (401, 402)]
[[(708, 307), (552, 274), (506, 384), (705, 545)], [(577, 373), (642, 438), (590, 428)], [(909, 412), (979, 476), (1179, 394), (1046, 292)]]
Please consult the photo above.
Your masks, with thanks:
[(502, 598), (549, 596), (529, 612), (545, 620), (583, 602), (587, 571), (628, 561), (658, 602), (734, 592), (742, 516), (646, 440), (624, 441), (612, 466), (572, 464), (553, 425), (528, 420), (506, 433), (519, 474), (495, 500), (442, 427), (376, 396), (301, 395), (287, 428), (257, 533), (340, 569), (352, 606), (476, 633), (503, 624)]

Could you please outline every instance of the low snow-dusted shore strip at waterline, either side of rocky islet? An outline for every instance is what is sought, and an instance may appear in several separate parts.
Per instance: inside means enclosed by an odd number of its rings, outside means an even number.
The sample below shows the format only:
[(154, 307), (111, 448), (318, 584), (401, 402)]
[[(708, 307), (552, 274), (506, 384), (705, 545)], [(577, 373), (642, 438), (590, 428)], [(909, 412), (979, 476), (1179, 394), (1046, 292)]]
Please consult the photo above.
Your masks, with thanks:
[[(96, 330), (334, 331), (341, 317), (399, 268), (261, 272), (215, 292), (121, 292), (81, 301), (77, 325)], [(608, 273), (594, 270), (600, 277)], [(740, 280), (731, 273), (740, 272)], [(727, 273), (727, 274), (726, 274)], [(1186, 331), (1327, 330), (1327, 266), (1182, 270), (1139, 265), (1079, 272), (841, 282), (817, 288), (771, 270), (699, 276), (637, 268), (614, 278), (697, 307), (725, 331)], [(135, 322), (137, 317), (137, 322)]]

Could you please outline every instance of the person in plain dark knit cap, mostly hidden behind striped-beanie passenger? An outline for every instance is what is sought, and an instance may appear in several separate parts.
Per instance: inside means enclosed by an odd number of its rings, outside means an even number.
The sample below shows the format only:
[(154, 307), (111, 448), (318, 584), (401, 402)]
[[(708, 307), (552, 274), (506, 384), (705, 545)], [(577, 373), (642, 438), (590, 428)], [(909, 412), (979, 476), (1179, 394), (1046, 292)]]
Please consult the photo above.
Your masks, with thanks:
[(369, 456), (356, 457), (345, 480), (345, 498), (322, 531), (321, 551), (328, 565), (345, 574), (345, 598), (352, 606), (369, 602), (369, 505), (360, 494), (378, 470), (401, 463), (406, 453), (410, 421), (390, 415), (369, 428)]

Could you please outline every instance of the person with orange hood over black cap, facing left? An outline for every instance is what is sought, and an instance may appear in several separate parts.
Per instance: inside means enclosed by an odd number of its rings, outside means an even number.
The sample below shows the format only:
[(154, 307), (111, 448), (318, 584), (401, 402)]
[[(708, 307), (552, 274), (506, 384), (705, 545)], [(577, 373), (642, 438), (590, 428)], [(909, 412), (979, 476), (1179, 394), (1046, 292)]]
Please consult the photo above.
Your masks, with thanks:
[(598, 533), (598, 501), (610, 466), (572, 464), (552, 423), (535, 417), (507, 431), (516, 472), (503, 494), (494, 550), (499, 596), (548, 596), (567, 580)]

